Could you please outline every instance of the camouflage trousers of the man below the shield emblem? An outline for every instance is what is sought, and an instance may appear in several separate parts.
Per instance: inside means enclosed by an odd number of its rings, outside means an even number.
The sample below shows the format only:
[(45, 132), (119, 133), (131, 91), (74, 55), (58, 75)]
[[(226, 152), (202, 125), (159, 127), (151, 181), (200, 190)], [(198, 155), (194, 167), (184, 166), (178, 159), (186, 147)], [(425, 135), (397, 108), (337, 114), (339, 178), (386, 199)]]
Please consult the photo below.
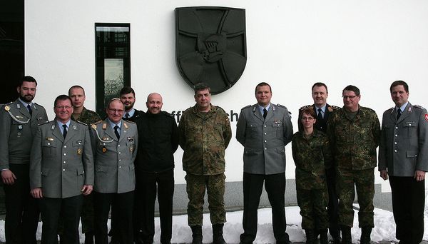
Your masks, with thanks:
[(208, 195), (210, 220), (213, 225), (226, 222), (225, 210), (225, 174), (214, 176), (195, 176), (188, 173), (185, 176), (186, 191), (188, 193), (188, 225), (202, 225), (203, 199), (205, 188)]

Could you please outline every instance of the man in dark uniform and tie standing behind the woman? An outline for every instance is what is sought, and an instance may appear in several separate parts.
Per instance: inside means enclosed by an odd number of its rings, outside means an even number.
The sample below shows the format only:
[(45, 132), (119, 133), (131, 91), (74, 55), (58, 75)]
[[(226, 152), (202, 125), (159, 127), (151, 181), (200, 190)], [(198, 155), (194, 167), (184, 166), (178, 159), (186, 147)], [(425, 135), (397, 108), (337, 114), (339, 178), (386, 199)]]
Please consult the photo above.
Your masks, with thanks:
[[(312, 108), (317, 114), (317, 121), (315, 122), (314, 128), (318, 131), (326, 132), (327, 131), (327, 120), (330, 114), (333, 111), (336, 111), (340, 107), (330, 106), (327, 103), (328, 90), (327, 85), (322, 82), (317, 82), (312, 86), (312, 99), (314, 104), (302, 106), (299, 109), (299, 116), (297, 118), (302, 117), (302, 111), (306, 108)], [(301, 121), (297, 121), (299, 125), (299, 131), (303, 131)], [(322, 152), (320, 152), (322, 153)], [(339, 199), (337, 198), (336, 192), (336, 168), (334, 163), (331, 168), (326, 169), (326, 180), (327, 180), (327, 189), (328, 189), (328, 206), (327, 213), (329, 219), (329, 231), (330, 235), (332, 235), (334, 244), (340, 244), (340, 228), (337, 223), (337, 210), (339, 205)], [(315, 227), (315, 235), (314, 238), (317, 238), (317, 227)]]

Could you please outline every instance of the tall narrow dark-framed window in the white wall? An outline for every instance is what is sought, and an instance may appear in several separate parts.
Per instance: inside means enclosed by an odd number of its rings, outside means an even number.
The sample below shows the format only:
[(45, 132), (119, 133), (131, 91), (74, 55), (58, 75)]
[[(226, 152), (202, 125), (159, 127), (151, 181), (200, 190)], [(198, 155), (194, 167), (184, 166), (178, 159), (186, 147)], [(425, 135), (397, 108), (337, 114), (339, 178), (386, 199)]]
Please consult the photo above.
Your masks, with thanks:
[(95, 24), (96, 112), (104, 118), (106, 104), (131, 86), (130, 24)]

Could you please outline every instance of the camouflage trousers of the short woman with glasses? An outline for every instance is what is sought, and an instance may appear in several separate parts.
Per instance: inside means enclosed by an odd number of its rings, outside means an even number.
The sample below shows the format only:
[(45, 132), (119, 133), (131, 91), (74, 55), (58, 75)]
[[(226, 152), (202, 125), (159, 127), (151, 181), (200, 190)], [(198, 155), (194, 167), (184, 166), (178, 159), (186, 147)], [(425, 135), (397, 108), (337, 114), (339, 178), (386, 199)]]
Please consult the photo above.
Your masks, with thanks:
[(322, 189), (297, 188), (297, 204), (302, 215), (302, 229), (324, 230), (328, 228), (328, 191), (327, 185)]

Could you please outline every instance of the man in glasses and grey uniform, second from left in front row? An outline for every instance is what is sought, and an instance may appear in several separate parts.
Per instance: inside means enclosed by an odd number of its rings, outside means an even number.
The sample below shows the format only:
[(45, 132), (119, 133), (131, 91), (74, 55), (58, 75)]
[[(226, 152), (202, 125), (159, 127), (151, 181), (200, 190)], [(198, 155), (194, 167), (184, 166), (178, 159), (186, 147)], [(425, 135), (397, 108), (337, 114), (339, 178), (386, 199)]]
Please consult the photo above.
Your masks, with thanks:
[[(71, 120), (71, 98), (55, 99), (55, 119), (39, 126), (31, 148), (31, 195), (40, 198), (41, 243), (58, 243), (58, 220), (63, 219), (64, 244), (78, 244), (83, 195), (92, 191), (93, 155), (88, 126)], [(61, 213), (61, 215), (60, 215)]]

